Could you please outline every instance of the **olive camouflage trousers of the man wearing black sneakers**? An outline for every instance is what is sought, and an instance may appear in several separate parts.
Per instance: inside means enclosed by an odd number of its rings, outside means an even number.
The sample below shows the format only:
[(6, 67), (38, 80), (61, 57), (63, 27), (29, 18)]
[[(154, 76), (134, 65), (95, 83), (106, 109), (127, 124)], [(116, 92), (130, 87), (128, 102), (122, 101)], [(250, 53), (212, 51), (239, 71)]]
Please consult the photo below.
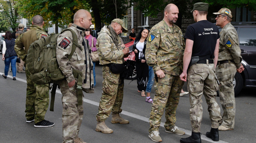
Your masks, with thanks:
[(43, 121), (49, 105), (49, 87), (38, 85), (30, 79), (30, 72), (26, 67), (27, 95), (26, 118), (35, 119), (35, 123)]

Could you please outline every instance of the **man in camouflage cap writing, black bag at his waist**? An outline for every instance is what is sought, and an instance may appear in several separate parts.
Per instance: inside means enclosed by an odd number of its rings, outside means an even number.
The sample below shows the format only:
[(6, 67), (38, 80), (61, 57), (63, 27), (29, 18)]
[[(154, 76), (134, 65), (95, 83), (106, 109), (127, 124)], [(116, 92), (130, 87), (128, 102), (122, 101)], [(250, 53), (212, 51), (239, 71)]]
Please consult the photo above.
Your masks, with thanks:
[[(99, 63), (103, 65), (102, 97), (99, 102), (99, 112), (96, 115), (96, 131), (113, 133), (105, 124), (105, 120), (112, 112), (111, 123), (128, 124), (129, 121), (119, 116), (124, 96), (124, 81), (120, 77), (123, 70), (124, 56), (129, 48), (122, 48), (119, 34), (128, 32), (121, 19), (114, 19), (110, 25), (104, 26), (98, 33), (96, 48), (99, 54)], [(113, 67), (113, 68), (112, 68)], [(115, 70), (114, 70), (115, 69)]]

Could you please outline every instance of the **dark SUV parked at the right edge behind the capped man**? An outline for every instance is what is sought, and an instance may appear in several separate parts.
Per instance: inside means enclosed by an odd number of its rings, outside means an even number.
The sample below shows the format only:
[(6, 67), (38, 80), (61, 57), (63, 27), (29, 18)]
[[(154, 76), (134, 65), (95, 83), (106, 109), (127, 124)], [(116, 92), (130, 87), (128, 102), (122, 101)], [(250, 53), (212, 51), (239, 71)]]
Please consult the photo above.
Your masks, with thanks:
[[(234, 76), (235, 96), (243, 87), (256, 87), (256, 22), (231, 22), (239, 36), (244, 71)], [(221, 31), (221, 28), (219, 28)]]

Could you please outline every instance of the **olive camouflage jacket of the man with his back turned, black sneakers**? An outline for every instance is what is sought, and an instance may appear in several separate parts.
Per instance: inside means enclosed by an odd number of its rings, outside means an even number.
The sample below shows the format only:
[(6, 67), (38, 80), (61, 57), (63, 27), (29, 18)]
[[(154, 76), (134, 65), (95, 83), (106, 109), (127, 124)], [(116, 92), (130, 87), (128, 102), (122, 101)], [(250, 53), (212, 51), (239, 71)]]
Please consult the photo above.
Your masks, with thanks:
[(43, 28), (37, 25), (32, 25), (29, 31), (18, 36), (15, 41), (14, 50), (20, 59), (26, 61), (27, 51), (29, 50), (30, 44), (46, 36), (48, 36), (48, 34), (43, 31)]

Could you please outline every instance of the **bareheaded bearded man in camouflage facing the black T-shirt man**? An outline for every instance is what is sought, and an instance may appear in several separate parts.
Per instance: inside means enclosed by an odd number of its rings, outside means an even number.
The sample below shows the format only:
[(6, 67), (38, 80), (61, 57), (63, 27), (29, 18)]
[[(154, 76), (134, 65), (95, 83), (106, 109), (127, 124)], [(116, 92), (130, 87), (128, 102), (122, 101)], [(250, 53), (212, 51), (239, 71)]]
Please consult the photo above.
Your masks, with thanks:
[(154, 142), (162, 142), (159, 126), (165, 108), (165, 132), (184, 135), (185, 132), (175, 126), (176, 109), (180, 92), (184, 84), (179, 74), (182, 71), (185, 48), (181, 29), (175, 25), (178, 19), (178, 7), (168, 4), (164, 9), (163, 21), (151, 28), (147, 38), (145, 58), (153, 67), (155, 77), (155, 97), (150, 112), (149, 137)]

